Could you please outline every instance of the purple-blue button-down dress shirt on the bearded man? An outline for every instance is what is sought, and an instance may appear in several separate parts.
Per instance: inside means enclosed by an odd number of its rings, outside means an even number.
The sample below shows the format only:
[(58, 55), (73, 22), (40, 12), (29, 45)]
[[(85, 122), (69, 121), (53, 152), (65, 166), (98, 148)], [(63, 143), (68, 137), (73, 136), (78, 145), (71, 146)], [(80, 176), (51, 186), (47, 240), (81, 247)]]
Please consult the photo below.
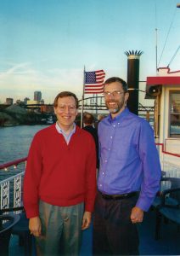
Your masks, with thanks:
[(98, 190), (107, 195), (140, 191), (136, 206), (148, 211), (160, 188), (160, 159), (149, 123), (126, 108), (98, 125)]

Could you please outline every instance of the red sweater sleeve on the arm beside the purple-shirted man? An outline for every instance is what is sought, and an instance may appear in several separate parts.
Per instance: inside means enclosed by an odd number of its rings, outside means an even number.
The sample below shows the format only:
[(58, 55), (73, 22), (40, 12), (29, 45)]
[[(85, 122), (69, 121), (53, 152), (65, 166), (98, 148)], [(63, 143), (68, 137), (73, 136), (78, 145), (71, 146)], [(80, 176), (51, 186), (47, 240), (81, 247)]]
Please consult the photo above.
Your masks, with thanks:
[(93, 137), (88, 139), (89, 150), (86, 165), (85, 211), (93, 212), (96, 195), (96, 148)]

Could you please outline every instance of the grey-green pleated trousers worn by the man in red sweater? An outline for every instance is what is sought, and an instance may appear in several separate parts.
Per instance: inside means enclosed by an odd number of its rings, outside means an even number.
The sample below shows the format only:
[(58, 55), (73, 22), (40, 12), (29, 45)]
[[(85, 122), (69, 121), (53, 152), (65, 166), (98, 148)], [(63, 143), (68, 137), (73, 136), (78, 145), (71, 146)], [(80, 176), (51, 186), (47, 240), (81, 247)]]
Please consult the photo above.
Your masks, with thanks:
[(78, 255), (84, 204), (57, 207), (40, 201), (39, 212), (42, 236), (36, 237), (37, 255)]

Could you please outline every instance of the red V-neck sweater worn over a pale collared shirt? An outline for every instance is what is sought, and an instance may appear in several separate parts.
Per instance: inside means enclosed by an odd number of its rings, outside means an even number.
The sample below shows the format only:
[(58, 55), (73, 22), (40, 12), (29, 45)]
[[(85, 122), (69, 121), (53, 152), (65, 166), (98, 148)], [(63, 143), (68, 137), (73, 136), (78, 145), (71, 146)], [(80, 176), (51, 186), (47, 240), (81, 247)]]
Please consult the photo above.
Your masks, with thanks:
[(32, 140), (24, 178), (27, 218), (39, 215), (39, 200), (59, 207), (85, 202), (93, 212), (96, 193), (96, 152), (93, 137), (76, 126), (67, 145), (55, 125)]

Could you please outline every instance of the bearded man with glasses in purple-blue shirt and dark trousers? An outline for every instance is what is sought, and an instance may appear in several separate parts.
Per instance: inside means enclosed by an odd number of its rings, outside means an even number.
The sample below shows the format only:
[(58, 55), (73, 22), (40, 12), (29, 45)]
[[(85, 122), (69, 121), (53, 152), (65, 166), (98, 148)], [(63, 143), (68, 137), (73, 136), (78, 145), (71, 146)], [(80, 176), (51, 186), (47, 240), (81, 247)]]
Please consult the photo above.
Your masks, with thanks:
[(93, 255), (138, 255), (137, 224), (160, 187), (160, 160), (149, 123), (127, 106), (127, 83), (110, 78), (110, 115), (98, 125), (100, 168), (93, 221)]

